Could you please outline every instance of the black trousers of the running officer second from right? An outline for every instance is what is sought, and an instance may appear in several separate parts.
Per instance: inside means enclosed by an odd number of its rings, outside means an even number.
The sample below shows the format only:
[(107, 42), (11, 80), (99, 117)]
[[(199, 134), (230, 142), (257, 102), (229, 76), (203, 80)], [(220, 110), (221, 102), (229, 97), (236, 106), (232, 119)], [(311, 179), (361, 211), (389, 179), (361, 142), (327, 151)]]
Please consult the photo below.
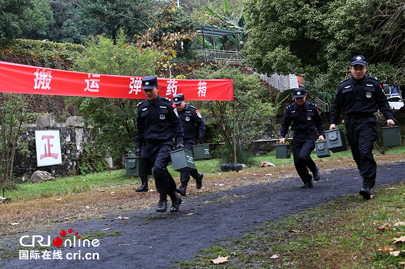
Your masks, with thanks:
[(311, 151), (315, 148), (316, 131), (296, 131), (293, 138), (294, 166), (302, 182), (312, 181), (308, 169), (316, 172), (316, 165), (311, 159)]

